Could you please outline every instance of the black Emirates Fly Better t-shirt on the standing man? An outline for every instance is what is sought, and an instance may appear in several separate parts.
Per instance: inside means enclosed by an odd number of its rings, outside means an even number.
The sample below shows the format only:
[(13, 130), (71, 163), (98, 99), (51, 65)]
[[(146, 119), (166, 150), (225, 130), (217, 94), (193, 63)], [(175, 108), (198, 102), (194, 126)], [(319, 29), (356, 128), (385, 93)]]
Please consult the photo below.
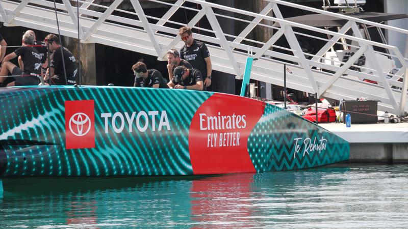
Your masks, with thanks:
[(208, 58), (209, 56), (210, 52), (206, 44), (196, 41), (195, 39), (190, 47), (184, 45), (180, 50), (180, 58), (188, 61), (193, 68), (198, 69), (203, 79), (207, 77), (207, 64), (204, 58)]

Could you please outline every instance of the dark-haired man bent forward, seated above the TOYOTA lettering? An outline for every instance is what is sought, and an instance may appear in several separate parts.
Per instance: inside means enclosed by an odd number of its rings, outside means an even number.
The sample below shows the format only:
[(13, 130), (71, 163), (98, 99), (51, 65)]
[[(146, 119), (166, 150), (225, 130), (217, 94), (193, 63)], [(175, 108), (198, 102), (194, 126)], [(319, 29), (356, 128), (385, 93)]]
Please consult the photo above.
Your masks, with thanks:
[(137, 62), (132, 66), (135, 75), (133, 87), (141, 88), (169, 88), (162, 73), (156, 69), (147, 69), (143, 62)]

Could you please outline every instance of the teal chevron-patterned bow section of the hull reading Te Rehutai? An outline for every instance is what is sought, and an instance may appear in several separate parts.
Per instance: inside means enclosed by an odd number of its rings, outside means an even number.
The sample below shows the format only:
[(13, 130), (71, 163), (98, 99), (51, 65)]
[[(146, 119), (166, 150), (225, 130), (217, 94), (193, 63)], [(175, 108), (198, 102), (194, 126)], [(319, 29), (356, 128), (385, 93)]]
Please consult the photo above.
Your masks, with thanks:
[(321, 166), (350, 155), (344, 139), (269, 104), (248, 138), (248, 152), (257, 171)]

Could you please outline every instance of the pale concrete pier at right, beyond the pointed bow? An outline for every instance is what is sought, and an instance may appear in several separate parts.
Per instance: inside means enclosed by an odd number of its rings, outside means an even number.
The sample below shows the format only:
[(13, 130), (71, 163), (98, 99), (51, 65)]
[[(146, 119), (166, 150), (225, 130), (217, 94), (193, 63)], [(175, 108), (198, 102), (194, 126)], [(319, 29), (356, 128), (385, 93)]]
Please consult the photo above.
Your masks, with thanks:
[(350, 162), (408, 163), (408, 123), (322, 123), (350, 142)]

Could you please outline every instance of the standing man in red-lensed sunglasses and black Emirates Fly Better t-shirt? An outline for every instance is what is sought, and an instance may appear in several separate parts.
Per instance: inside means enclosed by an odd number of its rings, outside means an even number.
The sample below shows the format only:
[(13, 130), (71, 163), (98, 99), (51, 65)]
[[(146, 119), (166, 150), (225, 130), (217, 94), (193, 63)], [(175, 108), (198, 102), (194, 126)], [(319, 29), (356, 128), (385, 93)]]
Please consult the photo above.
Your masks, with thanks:
[(210, 52), (205, 43), (196, 41), (193, 38), (190, 27), (181, 27), (179, 35), (185, 43), (180, 50), (180, 58), (188, 61), (193, 68), (198, 69), (201, 72), (204, 81), (203, 90), (205, 91), (206, 88), (211, 85), (212, 66)]

